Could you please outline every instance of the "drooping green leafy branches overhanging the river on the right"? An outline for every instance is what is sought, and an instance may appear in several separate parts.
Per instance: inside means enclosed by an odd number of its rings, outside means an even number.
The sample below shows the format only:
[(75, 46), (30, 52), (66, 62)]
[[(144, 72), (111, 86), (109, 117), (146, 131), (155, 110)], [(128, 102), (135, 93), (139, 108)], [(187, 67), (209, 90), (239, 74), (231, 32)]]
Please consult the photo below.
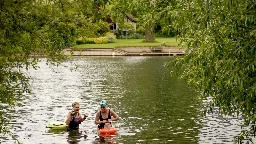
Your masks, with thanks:
[[(221, 113), (242, 115), (255, 134), (256, 3), (248, 1), (177, 1), (166, 8), (187, 55), (176, 59), (182, 77), (211, 97)], [(167, 23), (168, 24), (168, 23)], [(248, 134), (248, 133), (244, 133)]]

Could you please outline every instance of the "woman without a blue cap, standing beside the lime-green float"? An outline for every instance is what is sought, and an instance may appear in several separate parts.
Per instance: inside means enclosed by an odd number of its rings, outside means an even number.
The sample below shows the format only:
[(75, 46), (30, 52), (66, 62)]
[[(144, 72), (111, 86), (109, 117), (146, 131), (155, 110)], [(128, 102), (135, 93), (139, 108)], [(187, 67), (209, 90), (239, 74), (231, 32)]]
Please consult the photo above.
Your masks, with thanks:
[(88, 116), (84, 115), (84, 117), (82, 118), (79, 110), (80, 110), (80, 105), (78, 102), (74, 102), (72, 104), (73, 107), (73, 111), (69, 112), (67, 115), (67, 119), (66, 119), (66, 125), (68, 125), (68, 131), (72, 131), (72, 130), (78, 130), (79, 129), (79, 124), (81, 124), (81, 122), (83, 122)]

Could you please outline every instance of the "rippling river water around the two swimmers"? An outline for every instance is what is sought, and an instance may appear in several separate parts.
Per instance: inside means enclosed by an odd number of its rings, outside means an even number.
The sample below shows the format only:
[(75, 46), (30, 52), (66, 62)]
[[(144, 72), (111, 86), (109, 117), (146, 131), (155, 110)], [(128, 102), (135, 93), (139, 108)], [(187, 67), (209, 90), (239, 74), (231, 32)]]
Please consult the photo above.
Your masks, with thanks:
[[(63, 66), (29, 69), (32, 93), (13, 112), (13, 133), (24, 144), (233, 143), (238, 119), (218, 113), (202, 117), (203, 101), (185, 81), (170, 76), (172, 57), (74, 57)], [(71, 62), (73, 64), (71, 64)], [(77, 66), (77, 67), (76, 67)], [(120, 117), (112, 138), (99, 138), (94, 124), (100, 100)], [(53, 131), (48, 122), (64, 122), (79, 102), (89, 117), (77, 133)], [(1, 143), (13, 143), (11, 138)]]

